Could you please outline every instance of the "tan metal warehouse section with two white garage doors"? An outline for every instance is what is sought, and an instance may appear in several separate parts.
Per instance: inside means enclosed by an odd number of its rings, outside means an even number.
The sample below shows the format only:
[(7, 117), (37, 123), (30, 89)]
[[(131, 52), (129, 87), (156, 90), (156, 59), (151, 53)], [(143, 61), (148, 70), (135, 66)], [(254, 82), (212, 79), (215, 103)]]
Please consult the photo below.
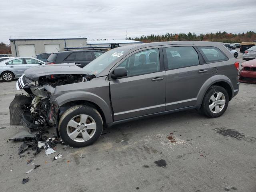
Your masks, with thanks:
[(14, 57), (34, 57), (40, 53), (52, 53), (64, 51), (69, 47), (85, 47), (87, 38), (29, 38), (10, 37), (12, 56)]

